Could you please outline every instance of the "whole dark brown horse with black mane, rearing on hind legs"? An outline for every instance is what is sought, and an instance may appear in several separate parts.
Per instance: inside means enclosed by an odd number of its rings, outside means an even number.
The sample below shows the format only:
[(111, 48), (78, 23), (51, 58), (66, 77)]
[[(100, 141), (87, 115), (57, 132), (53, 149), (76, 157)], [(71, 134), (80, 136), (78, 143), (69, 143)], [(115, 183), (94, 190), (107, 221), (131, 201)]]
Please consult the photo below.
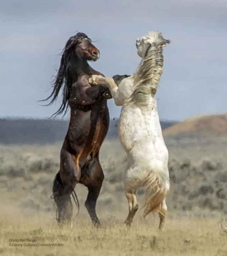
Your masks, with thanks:
[(99, 59), (100, 52), (84, 33), (68, 39), (62, 51), (61, 63), (53, 83), (53, 91), (46, 99), (52, 104), (63, 91), (63, 101), (54, 114), (71, 110), (68, 131), (61, 148), (60, 170), (53, 185), (57, 205), (57, 220), (72, 217), (72, 194), (77, 183), (88, 188), (85, 207), (94, 225), (100, 225), (95, 206), (104, 174), (99, 163), (99, 150), (109, 128), (107, 99), (111, 94), (106, 85), (90, 85), (89, 77), (102, 75), (90, 67), (88, 61)]

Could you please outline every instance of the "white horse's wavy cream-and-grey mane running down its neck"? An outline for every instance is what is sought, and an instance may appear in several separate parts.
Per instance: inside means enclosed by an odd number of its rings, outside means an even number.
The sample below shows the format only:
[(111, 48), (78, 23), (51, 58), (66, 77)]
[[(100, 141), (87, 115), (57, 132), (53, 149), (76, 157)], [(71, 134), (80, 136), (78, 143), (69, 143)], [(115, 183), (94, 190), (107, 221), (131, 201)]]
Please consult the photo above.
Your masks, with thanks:
[(164, 60), (162, 48), (170, 43), (159, 31), (151, 31), (145, 38), (150, 46), (133, 75), (135, 91), (128, 100), (130, 105), (136, 104), (139, 107), (147, 107), (150, 96), (157, 91)]

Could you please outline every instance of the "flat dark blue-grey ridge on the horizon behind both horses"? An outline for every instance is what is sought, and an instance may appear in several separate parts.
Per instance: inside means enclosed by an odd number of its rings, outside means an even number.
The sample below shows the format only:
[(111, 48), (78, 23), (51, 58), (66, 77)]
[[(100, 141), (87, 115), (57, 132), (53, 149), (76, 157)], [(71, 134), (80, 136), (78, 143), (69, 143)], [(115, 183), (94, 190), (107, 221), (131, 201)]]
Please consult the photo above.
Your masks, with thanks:
[[(107, 137), (117, 137), (118, 119), (110, 120)], [(63, 141), (68, 120), (55, 119), (0, 119), (0, 143), (2, 144), (45, 144)], [(161, 121), (162, 129), (175, 124)]]

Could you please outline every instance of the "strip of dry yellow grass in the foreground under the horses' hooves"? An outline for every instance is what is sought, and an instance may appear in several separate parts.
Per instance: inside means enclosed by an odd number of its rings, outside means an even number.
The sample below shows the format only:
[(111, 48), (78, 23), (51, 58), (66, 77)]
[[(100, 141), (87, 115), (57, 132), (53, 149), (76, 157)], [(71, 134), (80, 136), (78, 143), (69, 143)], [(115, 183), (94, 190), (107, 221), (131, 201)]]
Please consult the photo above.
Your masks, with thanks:
[(136, 220), (126, 228), (119, 221), (106, 219), (97, 229), (84, 217), (59, 227), (46, 215), (26, 219), (16, 214), (13, 219), (6, 217), (0, 225), (0, 253), (5, 256), (226, 256), (227, 251), (227, 234), (211, 218), (169, 218), (162, 232), (152, 220)]

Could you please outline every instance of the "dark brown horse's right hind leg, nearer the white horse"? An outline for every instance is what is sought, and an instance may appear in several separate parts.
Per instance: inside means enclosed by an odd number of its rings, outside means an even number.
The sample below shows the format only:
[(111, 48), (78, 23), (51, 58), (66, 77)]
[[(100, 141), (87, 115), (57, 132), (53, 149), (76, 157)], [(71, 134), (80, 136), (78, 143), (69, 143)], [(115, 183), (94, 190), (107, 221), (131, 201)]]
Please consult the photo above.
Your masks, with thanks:
[(94, 158), (85, 171), (81, 183), (88, 187), (88, 197), (85, 201), (85, 207), (88, 210), (92, 223), (97, 227), (100, 226), (100, 221), (96, 215), (95, 206), (103, 180), (104, 174), (99, 160), (98, 158)]

